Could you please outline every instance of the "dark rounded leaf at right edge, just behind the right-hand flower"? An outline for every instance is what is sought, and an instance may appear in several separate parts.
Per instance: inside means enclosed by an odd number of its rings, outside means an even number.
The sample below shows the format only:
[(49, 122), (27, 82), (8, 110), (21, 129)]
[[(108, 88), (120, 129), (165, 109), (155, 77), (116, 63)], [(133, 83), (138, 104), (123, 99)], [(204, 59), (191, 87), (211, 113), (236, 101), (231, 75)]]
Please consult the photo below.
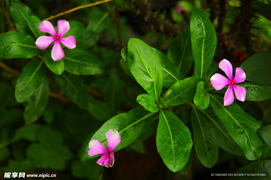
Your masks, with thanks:
[(271, 85), (271, 51), (259, 51), (240, 66), (246, 73), (246, 80), (262, 85)]

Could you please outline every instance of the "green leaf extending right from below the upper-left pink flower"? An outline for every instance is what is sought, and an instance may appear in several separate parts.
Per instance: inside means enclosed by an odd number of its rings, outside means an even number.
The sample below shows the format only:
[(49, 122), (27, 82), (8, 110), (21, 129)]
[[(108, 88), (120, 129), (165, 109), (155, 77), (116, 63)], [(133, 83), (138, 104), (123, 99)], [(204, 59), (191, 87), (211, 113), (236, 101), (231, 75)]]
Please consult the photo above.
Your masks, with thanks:
[(101, 60), (80, 49), (64, 49), (65, 71), (76, 75), (101, 74), (104, 72)]

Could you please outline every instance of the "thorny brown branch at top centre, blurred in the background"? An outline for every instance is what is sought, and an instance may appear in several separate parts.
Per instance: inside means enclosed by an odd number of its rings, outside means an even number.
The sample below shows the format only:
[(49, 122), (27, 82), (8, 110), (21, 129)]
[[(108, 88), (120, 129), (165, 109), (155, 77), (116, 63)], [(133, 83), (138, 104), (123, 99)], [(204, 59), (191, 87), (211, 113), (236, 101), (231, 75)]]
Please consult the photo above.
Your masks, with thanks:
[(157, 32), (162, 32), (166, 35), (177, 36), (182, 28), (177, 28), (167, 22), (164, 22), (157, 17), (157, 12), (153, 13), (150, 6), (145, 0), (135, 0), (135, 9), (137, 10), (137, 15), (141, 15), (151, 28), (154, 28)]

